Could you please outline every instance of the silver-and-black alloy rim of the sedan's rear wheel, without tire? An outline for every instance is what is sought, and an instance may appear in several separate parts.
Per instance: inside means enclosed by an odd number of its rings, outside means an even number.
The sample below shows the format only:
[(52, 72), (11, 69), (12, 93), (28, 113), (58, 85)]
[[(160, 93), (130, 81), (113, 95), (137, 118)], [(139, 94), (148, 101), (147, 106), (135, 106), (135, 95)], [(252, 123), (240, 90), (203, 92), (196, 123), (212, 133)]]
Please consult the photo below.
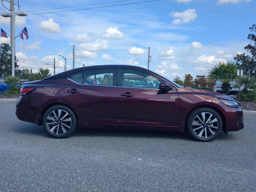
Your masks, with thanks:
[(47, 116), (46, 126), (54, 134), (64, 134), (68, 132), (72, 124), (71, 116), (65, 110), (53, 110)]

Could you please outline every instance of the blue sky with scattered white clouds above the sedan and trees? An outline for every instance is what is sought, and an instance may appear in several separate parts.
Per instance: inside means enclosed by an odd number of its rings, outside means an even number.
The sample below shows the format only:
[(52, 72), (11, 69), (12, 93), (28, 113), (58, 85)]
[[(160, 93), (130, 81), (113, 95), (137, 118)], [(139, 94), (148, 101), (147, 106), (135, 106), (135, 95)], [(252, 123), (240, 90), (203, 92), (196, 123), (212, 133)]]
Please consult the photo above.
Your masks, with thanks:
[[(16, 38), (19, 68), (23, 69), (24, 55), (25, 68), (32, 67), (32, 72), (40, 67), (49, 68), (53, 74), (56, 58), (57, 74), (64, 70), (65, 61), (59, 56), (63, 55), (70, 70), (72, 46), (75, 46), (75, 68), (83, 64), (147, 68), (150, 47), (150, 70), (170, 80), (176, 75), (183, 79), (184, 73), (194, 77), (207, 75), (219, 61), (233, 61), (234, 55), (244, 52), (249, 43), (248, 28), (256, 24), (255, 0), (159, 0), (35, 14), (146, 0), (114, 1), (118, 0), (19, 0), (20, 10), (29, 14), (16, 16), (16, 35), (24, 26), (29, 34), (28, 40)], [(7, 2), (4, 5), (10, 7)], [(77, 7), (62, 8), (70, 6)], [(6, 10), (0, 7), (0, 12)], [(0, 25), (10, 34), (9, 19), (0, 16)], [(10, 39), (0, 38), (0, 43), (3, 42), (9, 43)]]

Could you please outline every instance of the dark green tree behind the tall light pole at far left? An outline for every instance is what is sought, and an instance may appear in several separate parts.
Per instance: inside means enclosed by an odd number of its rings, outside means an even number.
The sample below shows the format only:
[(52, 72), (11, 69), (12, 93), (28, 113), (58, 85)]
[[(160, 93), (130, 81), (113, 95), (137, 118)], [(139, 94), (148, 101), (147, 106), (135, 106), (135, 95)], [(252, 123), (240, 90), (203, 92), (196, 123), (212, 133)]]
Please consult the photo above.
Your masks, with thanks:
[[(18, 60), (15, 57), (14, 67), (15, 75), (18, 75)], [(12, 55), (10, 54), (9, 44), (0, 44), (0, 76), (6, 77), (12, 75)]]

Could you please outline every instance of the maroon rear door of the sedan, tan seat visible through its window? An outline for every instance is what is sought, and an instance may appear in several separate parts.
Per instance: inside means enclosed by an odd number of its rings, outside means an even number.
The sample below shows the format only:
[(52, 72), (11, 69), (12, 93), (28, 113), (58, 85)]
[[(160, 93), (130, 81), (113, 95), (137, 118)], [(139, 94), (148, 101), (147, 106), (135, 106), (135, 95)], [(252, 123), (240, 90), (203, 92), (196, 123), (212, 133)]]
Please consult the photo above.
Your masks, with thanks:
[(71, 74), (64, 90), (86, 123), (118, 123), (119, 98), (114, 68)]

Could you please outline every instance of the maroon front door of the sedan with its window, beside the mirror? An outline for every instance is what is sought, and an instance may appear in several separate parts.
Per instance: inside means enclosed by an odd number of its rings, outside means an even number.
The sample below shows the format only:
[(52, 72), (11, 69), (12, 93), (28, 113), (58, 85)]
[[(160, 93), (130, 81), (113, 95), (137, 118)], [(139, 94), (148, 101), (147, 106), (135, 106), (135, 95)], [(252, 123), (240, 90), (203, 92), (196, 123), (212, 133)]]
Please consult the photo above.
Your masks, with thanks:
[(178, 113), (176, 89), (161, 91), (161, 79), (142, 70), (118, 68), (119, 123), (175, 126)]

